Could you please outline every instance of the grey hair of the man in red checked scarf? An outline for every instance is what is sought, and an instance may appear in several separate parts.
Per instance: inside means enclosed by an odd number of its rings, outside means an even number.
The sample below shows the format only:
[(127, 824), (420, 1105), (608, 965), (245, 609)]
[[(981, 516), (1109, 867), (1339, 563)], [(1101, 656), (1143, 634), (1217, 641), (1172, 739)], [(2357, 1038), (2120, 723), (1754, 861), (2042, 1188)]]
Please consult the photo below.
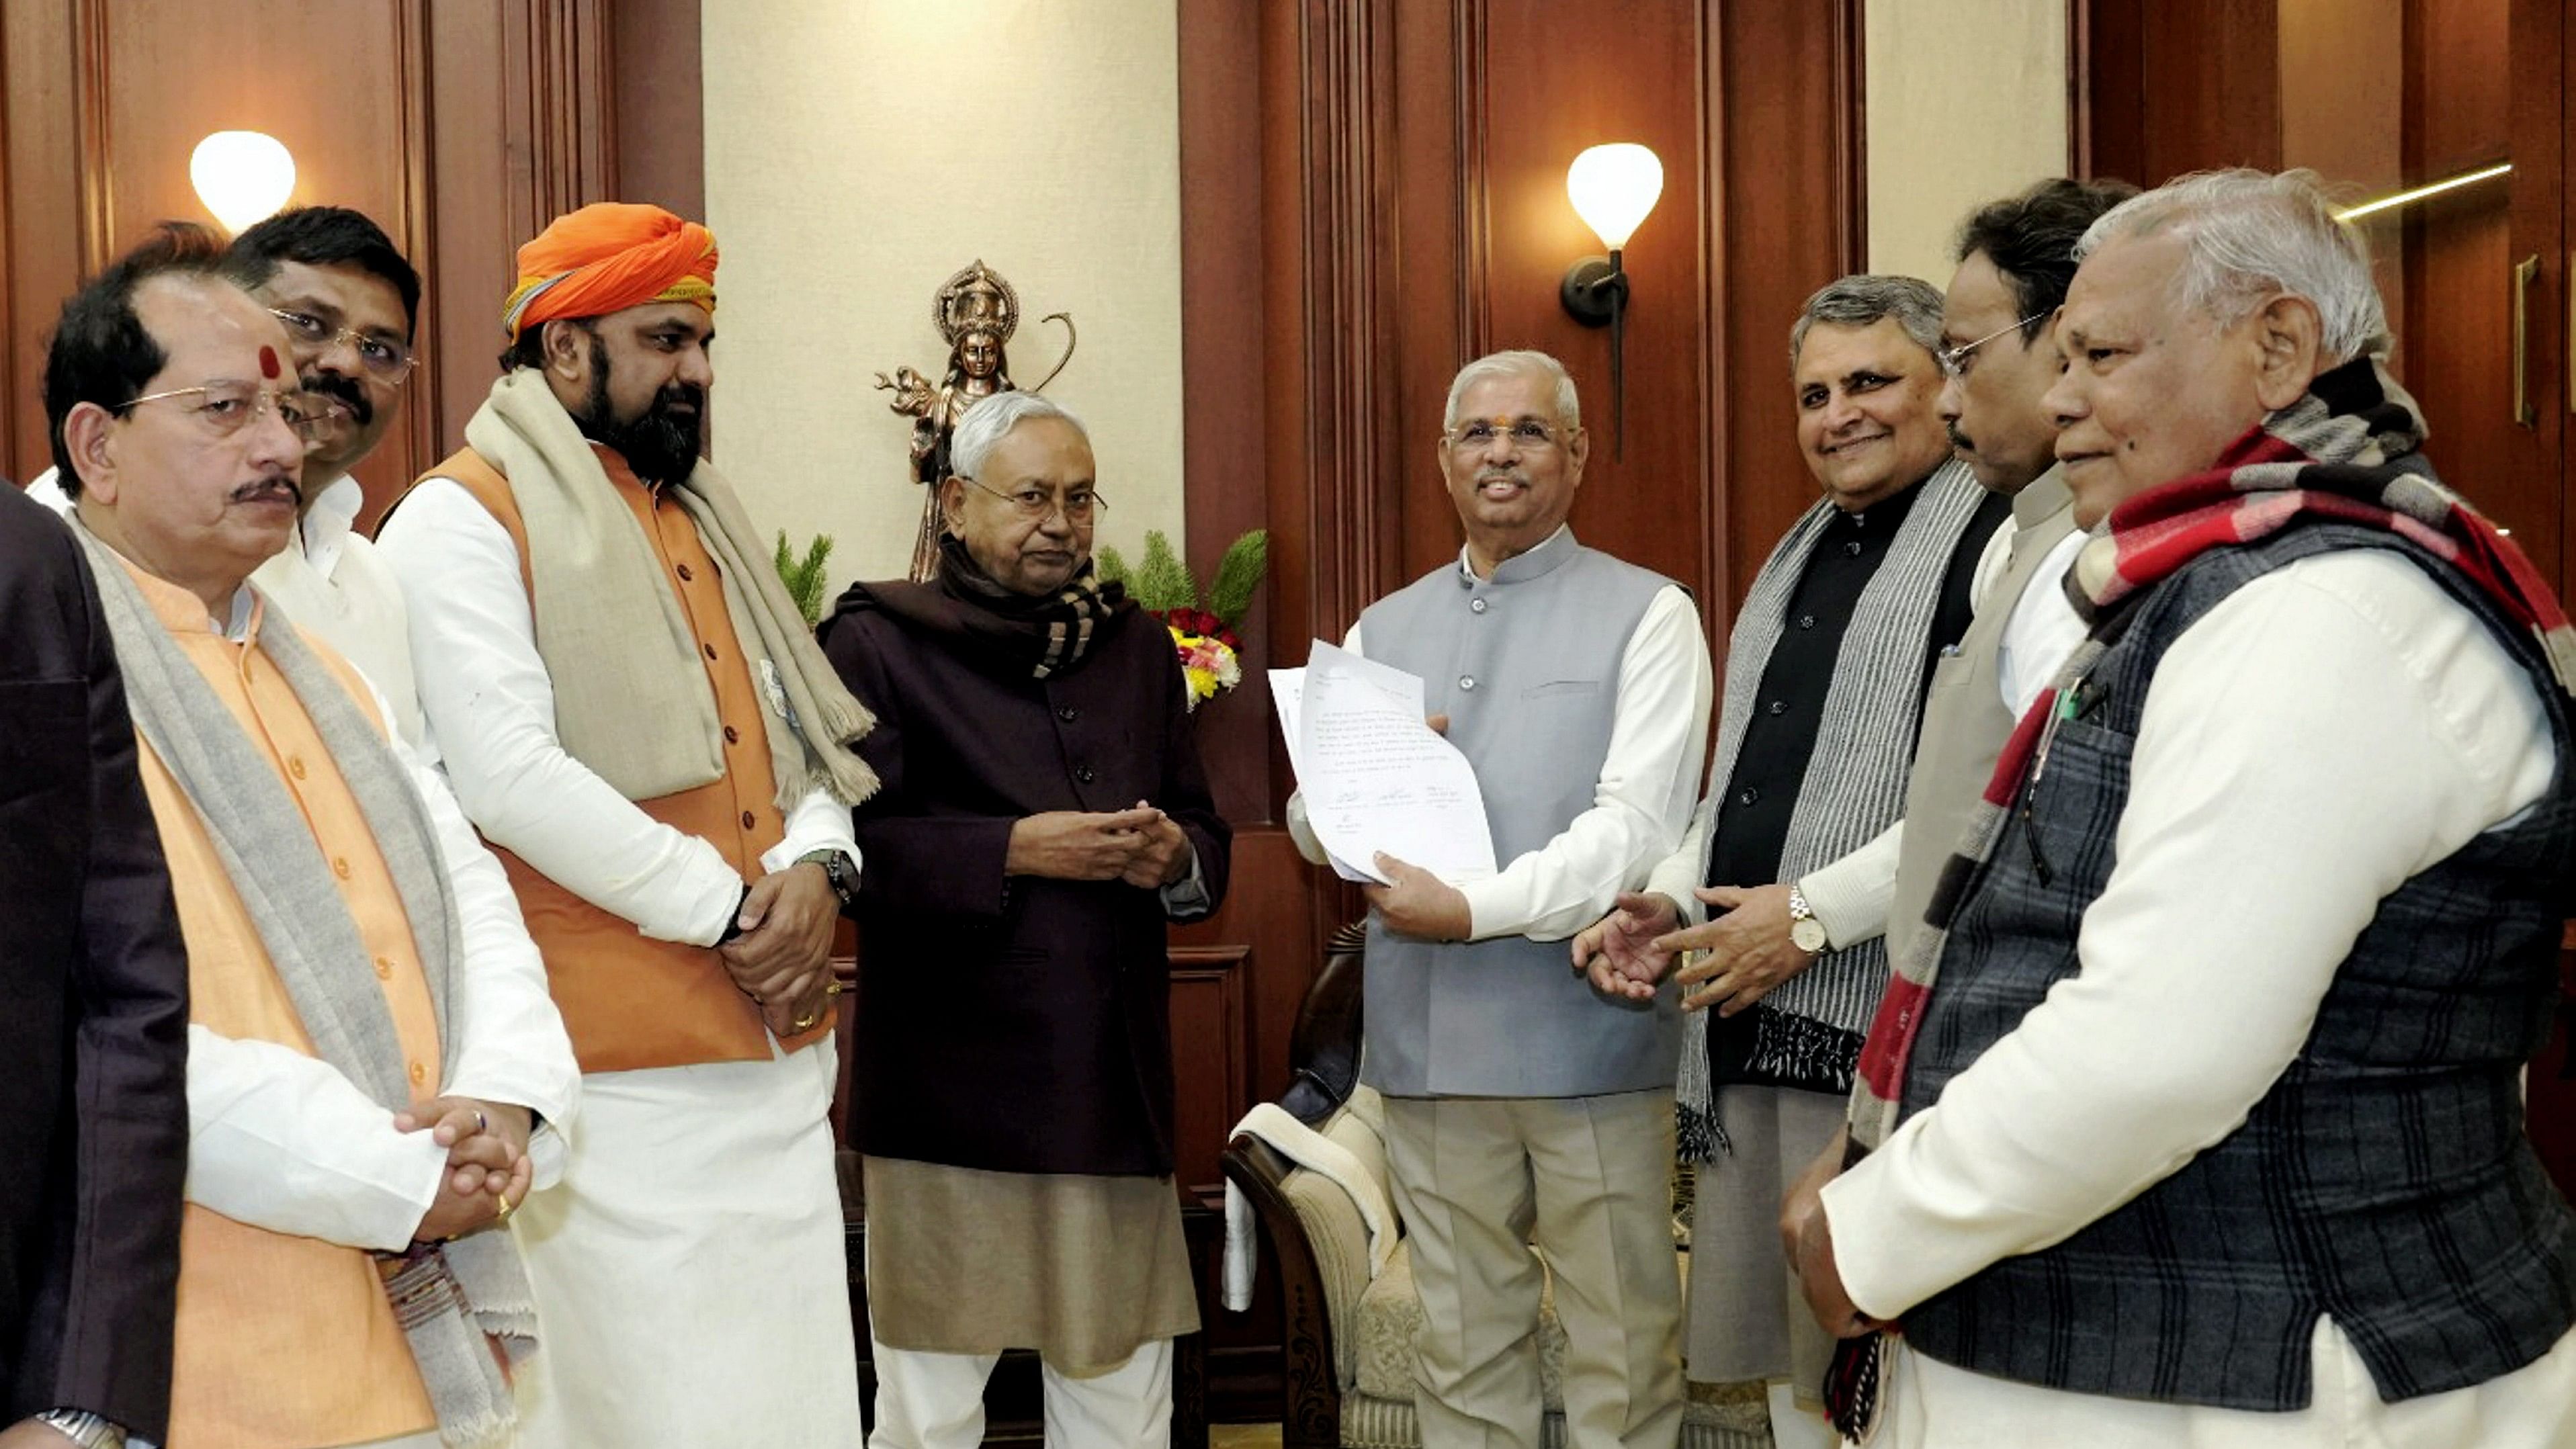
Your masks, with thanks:
[(2076, 242), (2081, 263), (2105, 242), (2174, 229), (2187, 250), (2179, 301), (2233, 327), (2285, 291), (2316, 306), (2318, 347), (2347, 363), (2388, 345), (2388, 311), (2370, 281), (2370, 242), (2334, 219), (2313, 170), (2202, 170), (2112, 206)]

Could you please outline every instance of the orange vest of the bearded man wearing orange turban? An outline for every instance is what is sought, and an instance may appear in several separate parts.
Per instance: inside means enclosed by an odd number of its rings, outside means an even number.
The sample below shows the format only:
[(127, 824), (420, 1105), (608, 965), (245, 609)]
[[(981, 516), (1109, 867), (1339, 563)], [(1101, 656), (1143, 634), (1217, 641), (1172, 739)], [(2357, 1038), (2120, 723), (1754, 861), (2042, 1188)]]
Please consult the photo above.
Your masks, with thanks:
[[(750, 661), (742, 659), (734, 615), (724, 605), (716, 558), (708, 556), (688, 512), (647, 489), (626, 458), (598, 445), (592, 456), (634, 510), (662, 564), (662, 579), (680, 600), (680, 615), (701, 643), (706, 682), (716, 690), (716, 718), (724, 721), (724, 777), (696, 790), (636, 800), (636, 808), (714, 844), (744, 880), (757, 880), (760, 854), (786, 836), (786, 818), (778, 813), (778, 775), (770, 770), (760, 692), (752, 687)], [(510, 494), (510, 479), (471, 448), (456, 450), (422, 476), (453, 479), (510, 530), (520, 584), (528, 584), (528, 525)], [(654, 721), (636, 721), (636, 728), (652, 726)], [(492, 854), (510, 872), (518, 909), (528, 916), (528, 934), (546, 955), (546, 981), (582, 1071), (770, 1058), (760, 1009), (734, 988), (714, 950), (652, 939), (636, 932), (634, 921), (564, 891), (500, 844), (492, 844)], [(791, 1037), (783, 1048), (817, 1042), (827, 1029), (829, 1024)]]

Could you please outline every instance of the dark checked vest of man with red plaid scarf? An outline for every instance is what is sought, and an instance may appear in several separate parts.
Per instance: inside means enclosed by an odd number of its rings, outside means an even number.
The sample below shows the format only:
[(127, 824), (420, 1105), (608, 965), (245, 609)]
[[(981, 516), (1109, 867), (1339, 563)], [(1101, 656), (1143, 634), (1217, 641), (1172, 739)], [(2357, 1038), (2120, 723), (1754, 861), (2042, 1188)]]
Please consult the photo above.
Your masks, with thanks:
[[(2246, 582), (2336, 548), (2391, 548), (2506, 643), (2550, 715), (2558, 775), (2519, 818), (2380, 901), (2298, 1060), (2177, 1174), (2053, 1248), (1906, 1313), (1924, 1354), (2092, 1395), (2303, 1408), (2331, 1315), (2380, 1398), (2530, 1364), (2576, 1323), (2576, 1212), (2522, 1132), (2522, 1063), (2548, 1035), (2576, 865), (2566, 697), (2530, 631), (2393, 533), (2293, 525), (2156, 584), (2058, 723), (1950, 924), (1904, 1114), (2076, 973), (2076, 924), (2112, 870), (2130, 752), (2164, 651)], [(2357, 726), (2367, 728), (2367, 726)], [(2246, 963), (2259, 968), (2259, 963)]]

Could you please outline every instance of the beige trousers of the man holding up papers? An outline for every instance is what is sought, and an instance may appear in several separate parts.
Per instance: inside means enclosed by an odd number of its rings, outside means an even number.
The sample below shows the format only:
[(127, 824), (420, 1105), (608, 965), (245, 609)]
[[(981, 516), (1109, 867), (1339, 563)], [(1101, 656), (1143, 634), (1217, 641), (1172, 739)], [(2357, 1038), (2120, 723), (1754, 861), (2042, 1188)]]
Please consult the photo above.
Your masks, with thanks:
[(1672, 1449), (1682, 1282), (1672, 1091), (1388, 1096), (1386, 1166), (1422, 1297), (1425, 1449), (1540, 1444), (1535, 1243), (1566, 1328), (1566, 1444)]

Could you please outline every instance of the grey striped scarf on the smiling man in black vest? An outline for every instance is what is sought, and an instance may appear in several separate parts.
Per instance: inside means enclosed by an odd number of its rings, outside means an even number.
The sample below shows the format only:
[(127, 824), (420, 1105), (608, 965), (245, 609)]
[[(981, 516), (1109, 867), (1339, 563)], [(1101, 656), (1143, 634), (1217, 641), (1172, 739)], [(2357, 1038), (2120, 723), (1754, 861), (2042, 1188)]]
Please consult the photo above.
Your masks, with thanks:
[[(1932, 649), (1932, 615), (1940, 610), (1942, 577), (1958, 551), (1960, 533), (1986, 502), (1976, 474), (1955, 458), (1942, 463), (1922, 489), (1888, 546), (1888, 558), (1852, 607), (1842, 651), (1834, 656), (1834, 679), (1824, 695), (1816, 749), (1808, 757), (1806, 780), (1798, 785), (1798, 803), (1790, 808), (1777, 880), (1795, 880), (1819, 865), (1842, 860), (1904, 816), (1906, 764), (1914, 759), (1914, 728), (1924, 703), (1924, 659)], [(1744, 597), (1744, 610), (1736, 613), (1736, 628), (1726, 641), (1728, 687), (1718, 708), (1718, 754), (1708, 772), (1710, 795), (1734, 788), (1744, 728), (1752, 723), (1762, 672), (1780, 643), (1788, 600), (1832, 520), (1832, 499), (1819, 499), (1816, 507), (1806, 510), (1772, 548)], [(1741, 880), (1739, 885), (1762, 883)], [(1752, 1066), (1788, 1071), (1819, 1050), (1857, 1055), (1860, 1032), (1870, 1024), (1886, 981), (1888, 950), (1875, 937), (1816, 957), (1814, 965), (1762, 999), (1770, 1014), (1759, 1022)], [(1814, 1029), (1811, 1022), (1826, 1029)], [(1837, 1071), (1850, 1076), (1852, 1063), (1842, 1060)], [(1726, 1138), (1716, 1122), (1716, 1084), (1708, 1076), (1708, 1011), (1692, 1011), (1682, 1024), (1682, 1073), (1674, 1094), (1682, 1156), (1710, 1161)]]

